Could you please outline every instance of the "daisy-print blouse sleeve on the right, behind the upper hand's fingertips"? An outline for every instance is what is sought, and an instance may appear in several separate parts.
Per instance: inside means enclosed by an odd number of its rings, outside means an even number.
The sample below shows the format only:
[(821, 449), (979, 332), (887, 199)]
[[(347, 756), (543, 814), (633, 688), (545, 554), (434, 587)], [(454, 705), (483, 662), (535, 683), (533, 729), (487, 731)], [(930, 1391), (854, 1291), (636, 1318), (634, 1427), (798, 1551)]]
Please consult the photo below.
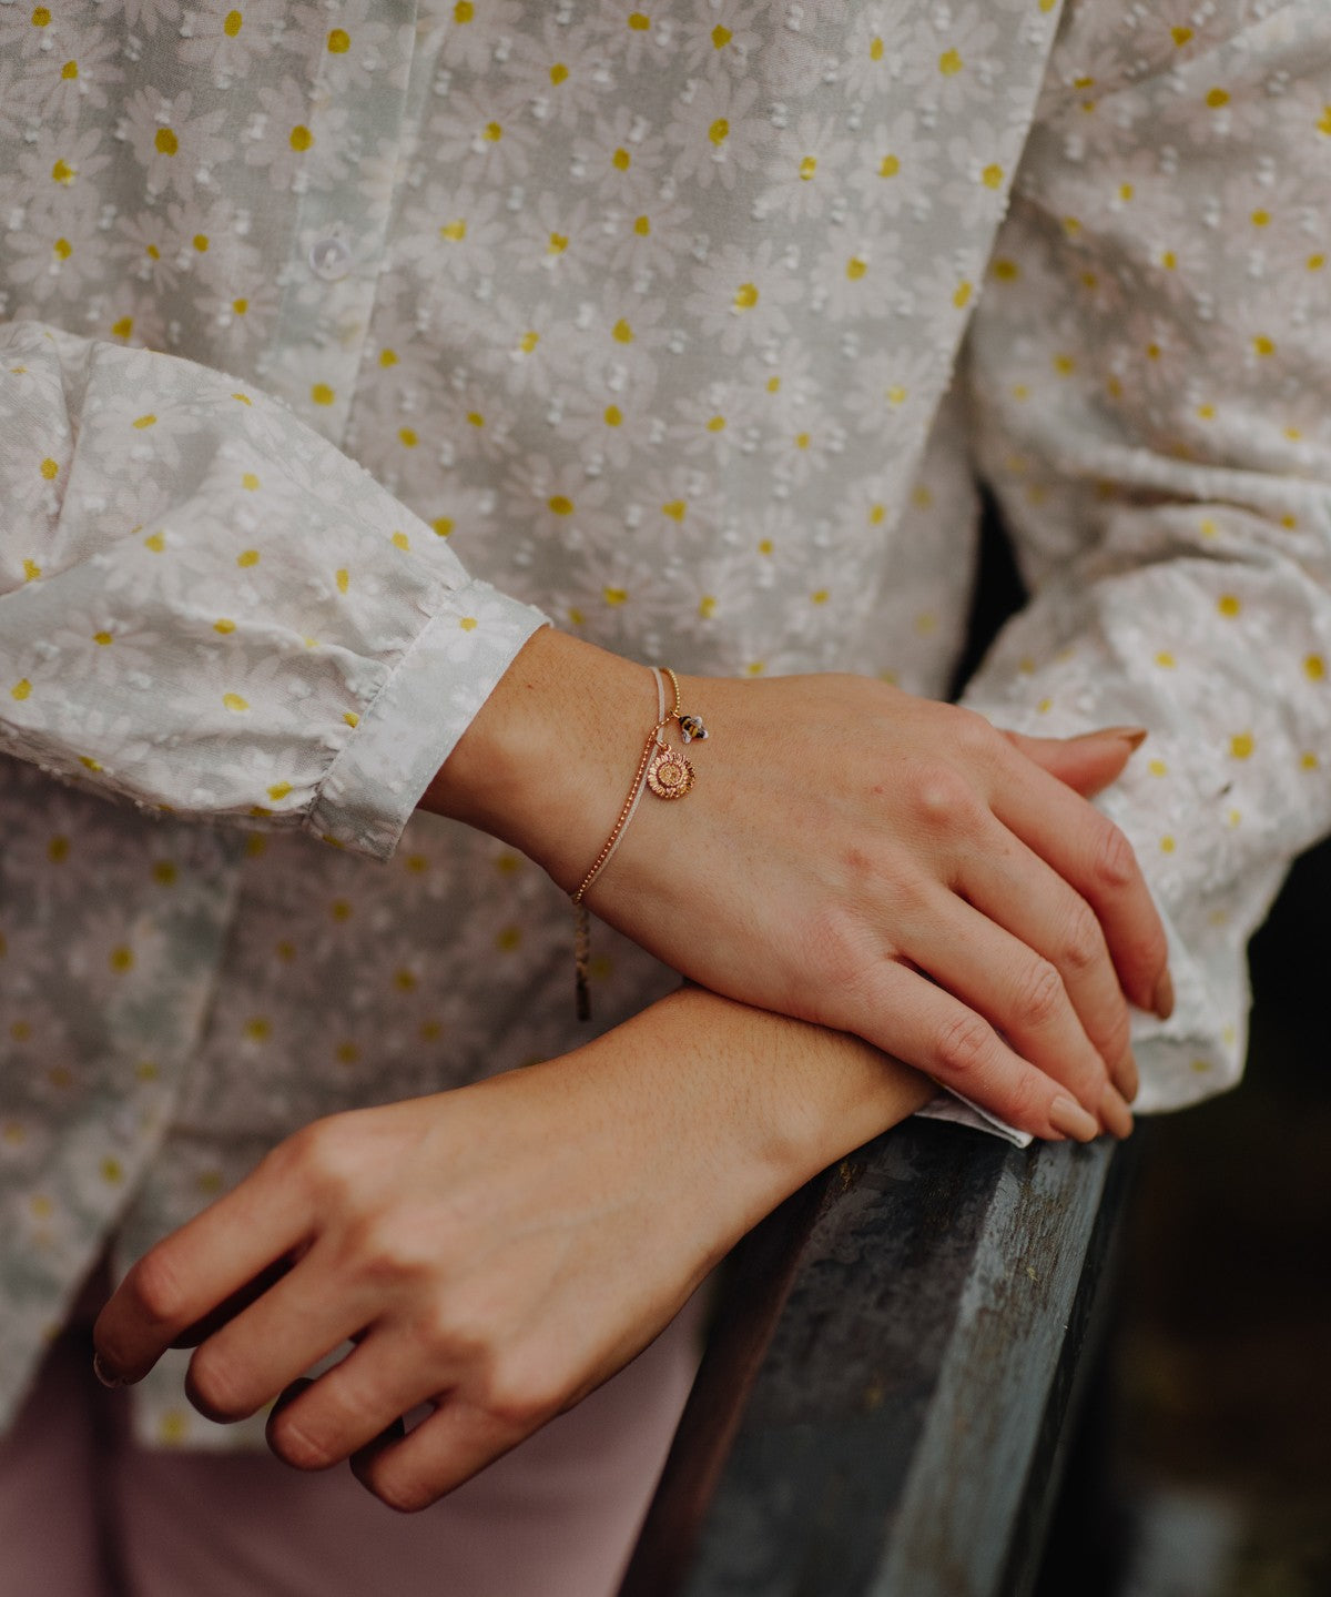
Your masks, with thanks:
[(1238, 1078), (1246, 939), (1331, 827), (1331, 8), (1125, 11), (1064, 16), (972, 327), (1033, 597), (966, 701), (1151, 731), (1103, 805), (1171, 941), (1152, 1110)]

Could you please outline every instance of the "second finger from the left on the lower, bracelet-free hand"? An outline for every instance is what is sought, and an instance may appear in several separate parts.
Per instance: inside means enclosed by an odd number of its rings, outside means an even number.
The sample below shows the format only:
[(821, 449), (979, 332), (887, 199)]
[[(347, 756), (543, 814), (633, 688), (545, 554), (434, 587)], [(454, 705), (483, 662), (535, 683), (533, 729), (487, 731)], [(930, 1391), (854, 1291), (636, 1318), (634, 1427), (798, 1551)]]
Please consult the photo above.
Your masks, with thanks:
[(372, 1289), (346, 1274), (330, 1281), (322, 1254), (316, 1242), (295, 1270), (195, 1351), (185, 1391), (199, 1413), (223, 1425), (257, 1413), (373, 1318)]

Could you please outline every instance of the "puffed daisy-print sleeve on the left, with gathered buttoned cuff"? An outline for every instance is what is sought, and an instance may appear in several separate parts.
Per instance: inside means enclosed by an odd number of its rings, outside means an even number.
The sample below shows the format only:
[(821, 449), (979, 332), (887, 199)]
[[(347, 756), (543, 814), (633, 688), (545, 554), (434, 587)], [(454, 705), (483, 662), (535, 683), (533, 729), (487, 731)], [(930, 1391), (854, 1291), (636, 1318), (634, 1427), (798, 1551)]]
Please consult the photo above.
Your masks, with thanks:
[(0, 751), (386, 858), (543, 620), (251, 385), (0, 327)]

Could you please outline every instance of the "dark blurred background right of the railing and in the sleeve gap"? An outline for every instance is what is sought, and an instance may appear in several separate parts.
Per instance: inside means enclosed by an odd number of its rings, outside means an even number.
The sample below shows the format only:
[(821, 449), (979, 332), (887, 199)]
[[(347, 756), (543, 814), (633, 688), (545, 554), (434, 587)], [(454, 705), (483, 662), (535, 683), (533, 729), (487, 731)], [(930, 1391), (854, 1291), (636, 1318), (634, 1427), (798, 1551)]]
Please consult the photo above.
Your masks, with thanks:
[[(1021, 586), (993, 508), (966, 680)], [(1243, 1084), (1143, 1123), (1039, 1597), (1331, 1597), (1331, 843), (1251, 947)]]

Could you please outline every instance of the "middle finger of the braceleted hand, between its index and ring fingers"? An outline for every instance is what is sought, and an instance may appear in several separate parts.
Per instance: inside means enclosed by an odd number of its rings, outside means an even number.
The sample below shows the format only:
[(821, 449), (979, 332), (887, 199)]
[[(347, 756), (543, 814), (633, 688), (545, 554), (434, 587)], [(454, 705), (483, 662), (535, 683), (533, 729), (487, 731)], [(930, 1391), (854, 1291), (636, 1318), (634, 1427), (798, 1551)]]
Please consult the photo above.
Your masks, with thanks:
[(1138, 1073), (1132, 1022), (1095, 910), (1005, 827), (994, 826), (977, 843), (956, 886), (981, 915), (1058, 971), (1080, 1030), (1119, 1092), (1133, 1099)]

